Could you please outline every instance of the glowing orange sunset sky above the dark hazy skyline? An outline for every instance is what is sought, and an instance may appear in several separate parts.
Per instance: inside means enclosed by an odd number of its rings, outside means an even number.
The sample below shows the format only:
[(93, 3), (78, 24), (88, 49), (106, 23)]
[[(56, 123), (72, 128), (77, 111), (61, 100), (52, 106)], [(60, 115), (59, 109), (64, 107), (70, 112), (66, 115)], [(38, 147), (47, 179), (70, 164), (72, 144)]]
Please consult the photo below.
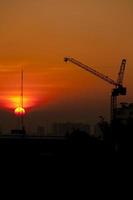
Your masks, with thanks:
[(60, 112), (65, 119), (66, 108), (74, 118), (72, 108), (80, 106), (79, 116), (84, 116), (87, 109), (88, 115), (83, 117), (87, 120), (93, 107), (94, 112), (105, 112), (107, 117), (112, 86), (64, 63), (63, 58), (67, 55), (77, 58), (113, 79), (122, 58), (126, 58), (124, 81), (128, 96), (124, 101), (131, 102), (132, 48), (132, 0), (2, 1), (1, 107), (7, 105), (9, 97), (19, 95), (23, 67), (24, 94), (34, 109)]

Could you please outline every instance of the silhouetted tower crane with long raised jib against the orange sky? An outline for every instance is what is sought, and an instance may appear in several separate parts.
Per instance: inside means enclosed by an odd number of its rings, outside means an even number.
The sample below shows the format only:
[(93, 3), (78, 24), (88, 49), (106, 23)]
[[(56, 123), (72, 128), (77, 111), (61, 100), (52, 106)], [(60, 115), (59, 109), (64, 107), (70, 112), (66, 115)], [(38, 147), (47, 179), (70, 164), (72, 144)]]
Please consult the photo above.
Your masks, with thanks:
[(116, 118), (116, 109), (117, 109), (117, 97), (119, 95), (126, 95), (126, 88), (123, 87), (123, 78), (124, 78), (126, 60), (123, 59), (122, 62), (121, 62), (121, 66), (120, 66), (120, 70), (119, 70), (119, 73), (118, 73), (117, 81), (114, 81), (110, 77), (108, 77), (108, 76), (96, 71), (92, 67), (89, 67), (89, 66), (79, 62), (78, 60), (72, 58), (72, 57), (64, 57), (64, 61), (65, 62), (69, 61), (69, 62), (77, 65), (78, 67), (81, 67), (84, 70), (86, 70), (86, 71), (92, 73), (93, 75), (99, 77), (100, 79), (108, 82), (109, 84), (115, 86), (115, 88), (113, 88), (112, 92), (111, 92), (111, 122), (113, 120), (115, 120), (115, 118)]

